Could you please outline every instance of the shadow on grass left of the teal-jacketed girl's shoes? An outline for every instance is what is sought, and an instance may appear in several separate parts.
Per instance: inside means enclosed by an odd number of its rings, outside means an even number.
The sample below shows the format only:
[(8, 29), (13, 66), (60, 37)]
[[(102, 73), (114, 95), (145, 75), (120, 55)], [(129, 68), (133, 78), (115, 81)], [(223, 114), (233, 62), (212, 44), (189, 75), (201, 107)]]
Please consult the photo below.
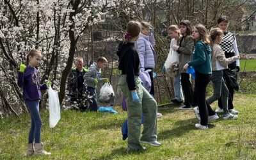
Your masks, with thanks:
[[(195, 128), (196, 123), (197, 123), (196, 118), (190, 118), (188, 120), (179, 120), (175, 122), (175, 126), (178, 126), (178, 127), (159, 132), (157, 134), (157, 140), (161, 141), (169, 138), (180, 137), (183, 134), (188, 133), (189, 131), (196, 130)], [(215, 127), (215, 125), (209, 124), (208, 127), (211, 129)]]

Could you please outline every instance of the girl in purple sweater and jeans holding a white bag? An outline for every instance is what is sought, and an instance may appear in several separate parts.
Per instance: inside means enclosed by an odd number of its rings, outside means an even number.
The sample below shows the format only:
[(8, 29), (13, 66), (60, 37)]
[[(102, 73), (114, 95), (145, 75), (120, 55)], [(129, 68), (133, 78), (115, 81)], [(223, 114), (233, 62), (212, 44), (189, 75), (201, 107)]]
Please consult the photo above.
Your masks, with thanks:
[(18, 76), (18, 85), (23, 88), (23, 97), (31, 116), (27, 156), (32, 156), (33, 154), (51, 154), (43, 150), (43, 145), (40, 140), (42, 127), (42, 120), (39, 113), (39, 100), (41, 99), (40, 90), (46, 90), (51, 85), (50, 82), (45, 84), (39, 83), (38, 70), (36, 68), (41, 58), (41, 52), (32, 49), (27, 55), (26, 65), (23, 63), (20, 64)]

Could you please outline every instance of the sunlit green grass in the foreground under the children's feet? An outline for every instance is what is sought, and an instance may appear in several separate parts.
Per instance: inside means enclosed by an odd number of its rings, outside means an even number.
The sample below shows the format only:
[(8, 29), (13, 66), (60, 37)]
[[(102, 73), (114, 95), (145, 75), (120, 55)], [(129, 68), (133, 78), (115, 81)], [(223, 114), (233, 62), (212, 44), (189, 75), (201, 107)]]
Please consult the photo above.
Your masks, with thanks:
[[(195, 129), (193, 111), (177, 106), (159, 108), (157, 120), (161, 147), (147, 147), (140, 154), (126, 154), (127, 141), (120, 127), (127, 117), (120, 107), (118, 115), (62, 111), (61, 120), (49, 128), (49, 112), (42, 111), (42, 141), (51, 156), (26, 157), (30, 118), (24, 114), (0, 120), (0, 159), (256, 159), (256, 95), (237, 93), (234, 104), (238, 120), (209, 124), (209, 130)], [(212, 105), (216, 108), (216, 102)]]

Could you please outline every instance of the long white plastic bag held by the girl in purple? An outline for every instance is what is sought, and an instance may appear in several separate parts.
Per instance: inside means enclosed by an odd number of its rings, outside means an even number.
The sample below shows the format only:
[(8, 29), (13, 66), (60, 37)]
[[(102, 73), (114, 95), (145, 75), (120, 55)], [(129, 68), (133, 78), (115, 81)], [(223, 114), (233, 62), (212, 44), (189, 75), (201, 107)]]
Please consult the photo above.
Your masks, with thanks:
[(58, 97), (58, 92), (56, 90), (52, 90), (50, 87), (48, 89), (48, 97), (49, 97), (49, 123), (50, 128), (55, 127), (60, 120), (60, 102)]

